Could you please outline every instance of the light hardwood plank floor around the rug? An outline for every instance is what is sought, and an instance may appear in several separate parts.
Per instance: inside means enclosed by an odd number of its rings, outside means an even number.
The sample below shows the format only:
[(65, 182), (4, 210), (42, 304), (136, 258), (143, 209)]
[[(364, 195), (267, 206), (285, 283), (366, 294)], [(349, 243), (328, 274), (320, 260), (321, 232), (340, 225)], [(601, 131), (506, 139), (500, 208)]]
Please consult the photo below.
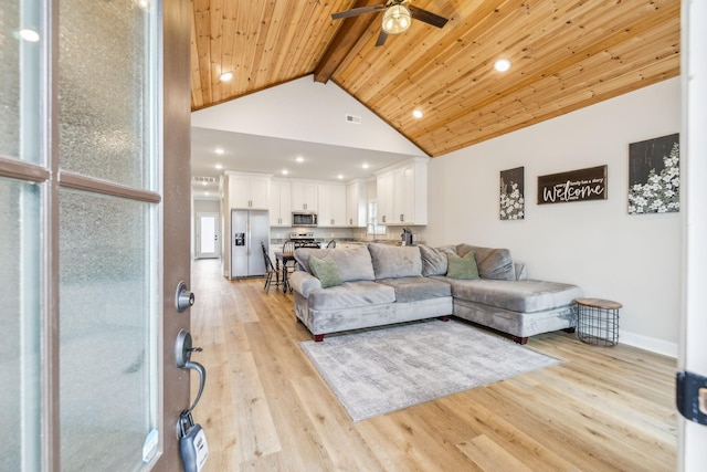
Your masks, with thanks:
[(229, 281), (215, 260), (192, 266), (207, 471), (676, 469), (673, 358), (534, 336), (528, 348), (563, 361), (355, 423), (299, 348), (312, 336), (292, 295), (263, 282)]

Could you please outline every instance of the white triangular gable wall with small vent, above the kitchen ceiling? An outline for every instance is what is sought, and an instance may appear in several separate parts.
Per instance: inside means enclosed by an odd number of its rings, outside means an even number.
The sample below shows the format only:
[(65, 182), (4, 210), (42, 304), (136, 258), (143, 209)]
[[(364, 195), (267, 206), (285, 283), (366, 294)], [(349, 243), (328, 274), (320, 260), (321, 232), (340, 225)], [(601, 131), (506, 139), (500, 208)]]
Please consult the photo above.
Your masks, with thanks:
[[(360, 124), (346, 115), (361, 118)], [(334, 82), (312, 75), (191, 114), (201, 128), (426, 156)]]

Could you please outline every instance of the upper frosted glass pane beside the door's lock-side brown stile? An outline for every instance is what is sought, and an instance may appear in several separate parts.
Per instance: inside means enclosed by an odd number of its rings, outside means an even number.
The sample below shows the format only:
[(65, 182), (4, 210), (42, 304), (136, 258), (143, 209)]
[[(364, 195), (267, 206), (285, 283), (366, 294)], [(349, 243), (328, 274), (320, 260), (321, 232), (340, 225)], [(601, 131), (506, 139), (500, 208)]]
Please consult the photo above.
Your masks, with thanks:
[(150, 136), (147, 1), (60, 2), (60, 166), (154, 190), (145, 143)]

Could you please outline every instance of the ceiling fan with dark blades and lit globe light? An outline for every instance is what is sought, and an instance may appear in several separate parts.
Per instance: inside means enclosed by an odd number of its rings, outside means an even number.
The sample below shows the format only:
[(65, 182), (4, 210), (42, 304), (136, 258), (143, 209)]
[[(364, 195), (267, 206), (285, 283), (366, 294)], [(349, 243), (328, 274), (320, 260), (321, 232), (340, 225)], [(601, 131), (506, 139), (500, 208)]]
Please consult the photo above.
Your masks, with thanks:
[(389, 34), (402, 33), (410, 28), (412, 19), (423, 21), (428, 24), (432, 24), (436, 28), (442, 28), (449, 21), (444, 17), (432, 13), (428, 10), (414, 7), (409, 3), (410, 0), (388, 0), (383, 4), (352, 8), (351, 10), (339, 11), (331, 14), (333, 20), (339, 20), (341, 18), (358, 17), (363, 13), (373, 13), (378, 11), (386, 11), (383, 13), (383, 23), (376, 41), (376, 46), (382, 46), (386, 44), (386, 40)]

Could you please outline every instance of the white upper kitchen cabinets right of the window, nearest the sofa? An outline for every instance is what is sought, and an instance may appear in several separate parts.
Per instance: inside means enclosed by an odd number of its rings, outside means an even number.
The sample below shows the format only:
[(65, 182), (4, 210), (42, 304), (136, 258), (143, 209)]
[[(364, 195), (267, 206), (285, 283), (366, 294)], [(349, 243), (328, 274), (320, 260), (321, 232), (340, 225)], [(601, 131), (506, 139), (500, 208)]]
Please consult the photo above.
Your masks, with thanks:
[(376, 174), (378, 224), (428, 224), (428, 162), (414, 157)]

